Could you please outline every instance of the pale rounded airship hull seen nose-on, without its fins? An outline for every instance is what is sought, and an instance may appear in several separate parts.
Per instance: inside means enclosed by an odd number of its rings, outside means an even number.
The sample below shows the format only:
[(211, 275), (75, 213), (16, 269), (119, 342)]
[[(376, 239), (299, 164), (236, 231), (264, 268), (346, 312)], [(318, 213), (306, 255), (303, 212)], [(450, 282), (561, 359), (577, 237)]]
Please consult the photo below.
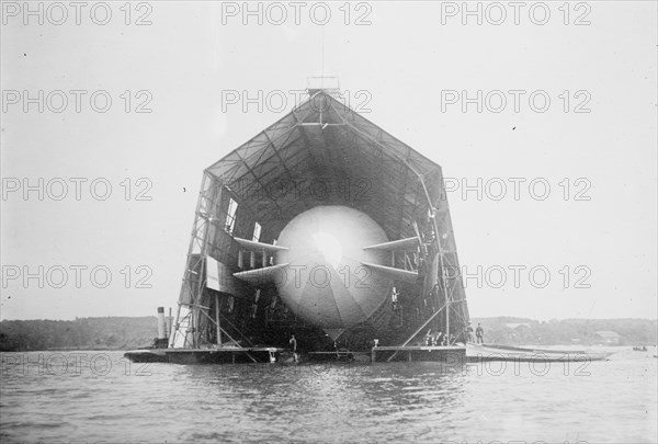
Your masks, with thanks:
[(317, 206), (291, 220), (279, 237), (276, 263), (287, 264), (276, 282), (282, 300), (327, 332), (366, 321), (390, 293), (388, 276), (364, 263), (383, 264), (386, 252), (364, 247), (386, 242), (366, 214), (347, 206)]

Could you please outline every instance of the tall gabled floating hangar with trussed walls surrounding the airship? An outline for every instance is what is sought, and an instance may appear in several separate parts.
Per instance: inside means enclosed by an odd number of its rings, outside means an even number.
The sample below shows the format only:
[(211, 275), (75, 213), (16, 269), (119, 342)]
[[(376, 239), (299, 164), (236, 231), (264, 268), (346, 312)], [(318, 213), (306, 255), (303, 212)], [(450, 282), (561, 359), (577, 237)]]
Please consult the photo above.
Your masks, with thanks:
[[(259, 332), (276, 297), (263, 298), (260, 288), (234, 277), (245, 260), (238, 240), (253, 239), (257, 230), (256, 240), (273, 244), (292, 218), (317, 205), (356, 208), (390, 241), (400, 240), (390, 266), (417, 278), (398, 284), (394, 308), (404, 314), (392, 335), (396, 345), (428, 325), (454, 337), (462, 332), (468, 309), (441, 167), (332, 91), (317, 89), (205, 169), (170, 346), (263, 342)], [(402, 242), (412, 238), (416, 244)], [(251, 267), (268, 265), (268, 252), (261, 253), (248, 252)], [(216, 276), (208, 276), (211, 263)], [(237, 310), (236, 301), (246, 309)]]

